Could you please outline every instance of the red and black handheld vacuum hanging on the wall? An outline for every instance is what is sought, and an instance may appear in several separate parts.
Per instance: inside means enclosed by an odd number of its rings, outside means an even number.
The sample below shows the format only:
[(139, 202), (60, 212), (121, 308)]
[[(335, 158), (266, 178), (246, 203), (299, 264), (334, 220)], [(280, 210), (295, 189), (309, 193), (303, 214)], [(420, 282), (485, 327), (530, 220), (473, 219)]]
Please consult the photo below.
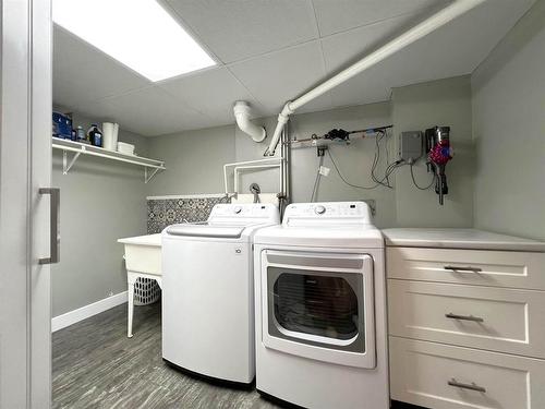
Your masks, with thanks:
[(439, 195), (440, 205), (444, 203), (444, 195), (448, 194), (445, 167), (452, 159), (449, 134), (450, 127), (434, 127), (425, 132), (427, 169), (435, 173), (435, 193)]

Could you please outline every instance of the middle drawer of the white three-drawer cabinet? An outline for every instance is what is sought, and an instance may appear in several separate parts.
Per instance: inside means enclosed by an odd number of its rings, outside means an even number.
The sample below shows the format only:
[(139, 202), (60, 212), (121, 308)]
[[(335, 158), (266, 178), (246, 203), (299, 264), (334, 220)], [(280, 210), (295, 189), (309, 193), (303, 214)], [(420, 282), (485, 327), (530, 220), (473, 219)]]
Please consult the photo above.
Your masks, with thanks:
[(545, 358), (545, 292), (388, 279), (389, 334)]

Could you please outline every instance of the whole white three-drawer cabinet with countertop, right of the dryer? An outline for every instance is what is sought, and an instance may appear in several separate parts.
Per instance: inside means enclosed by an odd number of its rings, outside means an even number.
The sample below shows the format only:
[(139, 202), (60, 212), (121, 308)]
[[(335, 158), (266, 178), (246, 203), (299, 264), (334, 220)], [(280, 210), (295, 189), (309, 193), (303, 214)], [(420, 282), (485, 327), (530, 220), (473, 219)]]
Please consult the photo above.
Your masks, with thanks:
[(384, 234), (391, 398), (545, 408), (545, 243), (472, 229)]

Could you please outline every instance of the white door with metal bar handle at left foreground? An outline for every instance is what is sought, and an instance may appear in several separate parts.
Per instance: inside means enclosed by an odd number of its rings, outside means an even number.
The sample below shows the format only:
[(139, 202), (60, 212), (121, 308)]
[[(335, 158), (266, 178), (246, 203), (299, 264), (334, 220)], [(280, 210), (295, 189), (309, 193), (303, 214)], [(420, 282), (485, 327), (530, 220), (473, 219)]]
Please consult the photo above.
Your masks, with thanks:
[(51, 395), (49, 265), (39, 263), (51, 258), (40, 194), (51, 182), (51, 10), (49, 0), (0, 4), (0, 408), (41, 409)]

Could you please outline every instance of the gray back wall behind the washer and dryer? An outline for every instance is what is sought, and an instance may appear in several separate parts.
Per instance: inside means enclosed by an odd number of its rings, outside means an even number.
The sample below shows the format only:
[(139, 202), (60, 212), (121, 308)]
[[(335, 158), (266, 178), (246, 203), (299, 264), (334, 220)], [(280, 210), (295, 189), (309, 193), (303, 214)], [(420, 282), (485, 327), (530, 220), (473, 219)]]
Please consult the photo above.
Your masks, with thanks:
[[(276, 117), (254, 120), (272, 134)], [(470, 227), (473, 222), (473, 149), (471, 133), (471, 86), (469, 76), (435, 81), (393, 91), (392, 100), (323, 112), (294, 115), (290, 136), (299, 140), (318, 135), (334, 128), (356, 130), (395, 123), (389, 136), (390, 161), (395, 158), (395, 140), (400, 131), (424, 130), (435, 124), (450, 125), (457, 156), (448, 165), (450, 193), (440, 207), (437, 195), (413, 187), (409, 169), (400, 168), (396, 189), (351, 188), (337, 175), (326, 155), (324, 166), (330, 168), (318, 185), (318, 201), (376, 201), (375, 224), (378, 227), (437, 226)], [(373, 185), (370, 170), (375, 139), (352, 137), (350, 146), (330, 147), (340, 171), (349, 182)], [(226, 163), (263, 158), (268, 139), (256, 144), (234, 125), (157, 136), (149, 140), (149, 154), (167, 160), (167, 171), (149, 184), (149, 195), (218, 193), (223, 191), (222, 167)], [(384, 153), (384, 152), (383, 152)], [(279, 154), (279, 149), (277, 149)], [(385, 157), (380, 168), (385, 168)], [(318, 158), (315, 148), (292, 149), (292, 201), (310, 201)], [(415, 167), (420, 184), (429, 180), (423, 161)], [(230, 179), (232, 180), (232, 179)], [(393, 181), (393, 179), (392, 179)], [(276, 171), (255, 171), (241, 178), (243, 191), (257, 182), (263, 192), (278, 192)]]

